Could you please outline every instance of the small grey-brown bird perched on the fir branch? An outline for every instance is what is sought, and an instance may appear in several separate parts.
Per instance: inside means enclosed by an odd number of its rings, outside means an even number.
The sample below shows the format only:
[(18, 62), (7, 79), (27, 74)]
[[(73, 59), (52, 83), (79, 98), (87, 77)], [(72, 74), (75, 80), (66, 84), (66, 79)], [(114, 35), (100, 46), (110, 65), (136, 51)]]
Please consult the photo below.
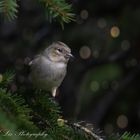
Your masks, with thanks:
[(68, 61), (73, 57), (71, 49), (65, 43), (53, 42), (29, 62), (31, 82), (37, 88), (51, 92), (55, 97), (66, 76)]

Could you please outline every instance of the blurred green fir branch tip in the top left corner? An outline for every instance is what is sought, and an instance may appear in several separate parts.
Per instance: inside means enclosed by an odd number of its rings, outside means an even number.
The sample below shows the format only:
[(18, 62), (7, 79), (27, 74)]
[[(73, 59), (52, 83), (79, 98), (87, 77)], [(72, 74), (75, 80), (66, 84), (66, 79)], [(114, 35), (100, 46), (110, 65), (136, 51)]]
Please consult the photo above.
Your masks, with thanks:
[(17, 0), (1, 0), (0, 13), (8, 20), (13, 20), (17, 17)]

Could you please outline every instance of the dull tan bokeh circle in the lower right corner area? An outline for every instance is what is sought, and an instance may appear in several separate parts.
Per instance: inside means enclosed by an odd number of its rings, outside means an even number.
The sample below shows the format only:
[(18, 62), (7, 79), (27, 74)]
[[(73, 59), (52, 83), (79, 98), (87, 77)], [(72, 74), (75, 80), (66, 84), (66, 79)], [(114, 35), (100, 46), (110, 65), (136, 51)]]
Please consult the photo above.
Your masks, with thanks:
[(128, 118), (125, 115), (118, 116), (117, 125), (119, 128), (126, 128), (128, 125)]

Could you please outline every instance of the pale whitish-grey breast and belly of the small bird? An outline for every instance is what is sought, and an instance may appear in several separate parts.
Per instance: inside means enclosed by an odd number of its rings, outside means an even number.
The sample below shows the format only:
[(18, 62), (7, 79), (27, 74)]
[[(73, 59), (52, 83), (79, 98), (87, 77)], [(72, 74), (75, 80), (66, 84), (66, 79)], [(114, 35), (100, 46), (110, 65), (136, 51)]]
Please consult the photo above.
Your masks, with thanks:
[(38, 64), (32, 66), (31, 79), (38, 87), (51, 90), (63, 81), (66, 67), (65, 63), (52, 62), (41, 57), (38, 59)]

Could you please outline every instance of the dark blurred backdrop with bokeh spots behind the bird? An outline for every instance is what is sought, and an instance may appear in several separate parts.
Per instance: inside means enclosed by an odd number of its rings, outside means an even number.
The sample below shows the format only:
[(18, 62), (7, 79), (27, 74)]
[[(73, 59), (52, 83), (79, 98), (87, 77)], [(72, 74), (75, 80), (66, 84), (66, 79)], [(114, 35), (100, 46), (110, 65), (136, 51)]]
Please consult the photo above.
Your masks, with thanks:
[(20, 1), (16, 20), (0, 21), (0, 72), (16, 70), (23, 85), (28, 60), (53, 41), (62, 41), (75, 56), (56, 98), (64, 118), (92, 123), (108, 135), (140, 132), (139, 0), (67, 2), (76, 21), (64, 30), (49, 23), (33, 0)]

